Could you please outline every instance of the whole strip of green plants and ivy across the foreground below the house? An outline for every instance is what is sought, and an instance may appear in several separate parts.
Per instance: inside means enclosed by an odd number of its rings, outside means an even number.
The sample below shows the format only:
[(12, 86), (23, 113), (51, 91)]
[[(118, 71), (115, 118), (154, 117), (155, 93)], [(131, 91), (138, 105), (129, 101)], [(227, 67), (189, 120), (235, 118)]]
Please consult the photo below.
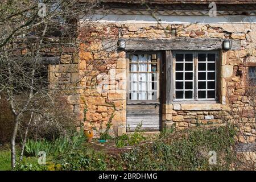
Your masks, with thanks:
[[(46, 165), (39, 165), (34, 152), (31, 152), (24, 156), (22, 164), (16, 170), (230, 170), (237, 167), (236, 155), (231, 149), (235, 135), (236, 129), (233, 126), (189, 129), (181, 133), (171, 129), (163, 131), (152, 142), (138, 145), (135, 141), (142, 141), (144, 138), (135, 133), (129, 137), (118, 137), (114, 141), (116, 147), (129, 145), (132, 150), (120, 150), (123, 152), (111, 155), (95, 150), (86, 143), (82, 144), (85, 140), (83, 137), (75, 137), (79, 142), (73, 142), (74, 138), (64, 139), (68, 143), (64, 145), (56, 140), (47, 144), (54, 149), (47, 155)], [(39, 144), (29, 142), (31, 146), (27, 147), (30, 151), (35, 151), (33, 146), (44, 146), (40, 142), (47, 143), (39, 140), (35, 142)], [(130, 145), (132, 143), (134, 146)], [(209, 164), (209, 151), (216, 151), (217, 165)], [(3, 161), (0, 169), (10, 169), (10, 152), (3, 150), (0, 154)]]

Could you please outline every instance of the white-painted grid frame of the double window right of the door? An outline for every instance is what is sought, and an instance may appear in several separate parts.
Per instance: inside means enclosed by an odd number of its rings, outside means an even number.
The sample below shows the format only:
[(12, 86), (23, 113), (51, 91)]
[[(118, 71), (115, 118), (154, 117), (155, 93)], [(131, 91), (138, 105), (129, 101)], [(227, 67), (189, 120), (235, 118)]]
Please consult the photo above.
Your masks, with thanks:
[[(193, 55), (193, 80), (185, 80), (185, 73), (186, 72), (191, 72), (191, 71), (176, 71), (176, 54), (187, 54), (187, 53), (192, 53)], [(198, 55), (200, 53), (205, 53), (205, 54), (208, 54), (208, 53), (214, 53), (215, 54), (215, 62), (208, 62), (208, 56), (206, 57), (206, 60), (205, 61), (200, 61), (200, 63), (205, 63), (206, 65), (206, 68), (205, 68), (205, 71), (199, 71), (198, 68), (198, 64), (199, 64), (199, 61), (198, 61)], [(219, 59), (219, 56), (218, 56), (218, 51), (173, 51), (172, 52), (172, 55), (173, 55), (173, 74), (172, 74), (172, 81), (174, 84), (172, 84), (174, 86), (174, 89), (173, 90), (173, 101), (195, 101), (195, 102), (200, 102), (200, 101), (213, 101), (213, 102), (216, 102), (217, 101), (217, 89), (218, 89), (218, 86), (217, 86), (217, 74), (218, 74), (218, 70), (217, 70), (217, 65), (218, 65), (218, 61), (220, 61)], [(185, 62), (185, 56), (184, 56), (184, 60), (183, 62), (177, 62), (177, 63), (183, 63), (183, 67), (185, 68), (185, 63), (192, 63), (192, 62)], [(207, 71), (207, 66), (208, 66), (208, 63), (215, 63), (215, 70), (214, 71)], [(183, 72), (183, 80), (176, 80), (176, 72)], [(208, 72), (215, 72), (215, 80), (208, 80), (208, 75), (206, 74), (206, 77), (205, 77), (205, 80), (200, 80), (200, 81), (205, 81), (206, 85), (205, 85), (205, 89), (198, 89), (198, 83), (199, 83), (199, 79), (198, 79), (198, 73), (200, 72), (205, 72), (205, 73), (208, 73)], [(183, 89), (176, 89), (176, 81), (183, 81)], [(193, 82), (193, 86), (192, 88), (193, 89), (185, 89), (185, 81), (192, 81)], [(214, 81), (215, 82), (215, 88), (214, 89), (208, 89), (207, 88), (207, 81)], [(176, 98), (176, 91), (183, 91), (183, 98)], [(193, 98), (185, 98), (185, 91), (189, 91), (189, 90), (192, 90), (192, 96)], [(205, 91), (205, 97), (206, 98), (199, 98), (199, 94), (198, 92), (199, 91)], [(208, 91), (215, 91), (214, 94), (215, 94), (215, 97), (214, 98), (207, 98), (207, 92)]]

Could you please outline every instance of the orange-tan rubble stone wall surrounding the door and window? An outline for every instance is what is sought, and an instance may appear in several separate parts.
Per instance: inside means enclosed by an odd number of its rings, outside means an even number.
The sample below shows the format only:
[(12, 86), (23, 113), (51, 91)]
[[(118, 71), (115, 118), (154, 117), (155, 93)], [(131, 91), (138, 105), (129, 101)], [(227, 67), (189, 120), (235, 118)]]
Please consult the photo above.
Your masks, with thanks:
[[(255, 118), (253, 108), (250, 108), (246, 92), (247, 63), (254, 64), (255, 57), (255, 30), (254, 24), (98, 24), (97, 28), (88, 36), (106, 35), (113, 42), (117, 42), (118, 35), (122, 38), (143, 39), (171, 39), (176, 37), (197, 38), (226, 38), (242, 41), (239, 51), (221, 51), (221, 75), (220, 75), (220, 103), (219, 104), (174, 104), (163, 105), (163, 126), (176, 124), (177, 129), (185, 129), (196, 126), (220, 126), (226, 122), (234, 122), (240, 126), (238, 140), (240, 142), (253, 142), (256, 137)], [(126, 63), (125, 52), (111, 51), (104, 55), (104, 41), (93, 40), (88, 44), (91, 50), (80, 52), (80, 65), (85, 65), (86, 70), (92, 70), (92, 75), (84, 78), (82, 85), (86, 89), (80, 89), (80, 114), (84, 115), (85, 127), (104, 126), (112, 118), (114, 133), (124, 132), (126, 120)], [(87, 45), (87, 46), (88, 46)], [(100, 60), (101, 65), (94, 72), (90, 65), (93, 60)], [(89, 69), (88, 69), (89, 68)], [(95, 69), (96, 67), (94, 67)], [(117, 80), (110, 81), (109, 86), (118, 86), (118, 92), (97, 92), (97, 84), (101, 83), (101, 77), (97, 73), (114, 72), (119, 75)], [(84, 72), (80, 69), (80, 76)], [(89, 84), (94, 86), (88, 89)], [(90, 81), (88, 81), (90, 80)], [(111, 89), (110, 89), (111, 90)], [(241, 119), (237, 119), (241, 117)], [(118, 131), (119, 128), (119, 131)], [(246, 138), (242, 137), (246, 135)]]

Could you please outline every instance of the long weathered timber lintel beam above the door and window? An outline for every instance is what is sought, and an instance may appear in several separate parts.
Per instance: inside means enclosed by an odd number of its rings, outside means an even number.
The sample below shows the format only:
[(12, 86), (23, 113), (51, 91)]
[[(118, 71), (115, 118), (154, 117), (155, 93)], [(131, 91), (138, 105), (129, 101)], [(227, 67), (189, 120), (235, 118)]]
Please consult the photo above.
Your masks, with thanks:
[[(125, 39), (126, 51), (193, 50), (212, 51), (222, 49), (225, 39), (175, 38), (175, 39)], [(232, 50), (241, 49), (241, 40), (232, 40)]]

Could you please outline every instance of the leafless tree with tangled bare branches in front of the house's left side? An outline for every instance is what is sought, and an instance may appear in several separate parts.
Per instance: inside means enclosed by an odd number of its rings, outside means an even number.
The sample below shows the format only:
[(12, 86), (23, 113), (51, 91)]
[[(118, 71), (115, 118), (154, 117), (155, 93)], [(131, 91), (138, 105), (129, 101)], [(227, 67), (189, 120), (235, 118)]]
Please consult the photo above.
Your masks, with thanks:
[[(42, 4), (39, 6), (39, 3), (46, 5), (46, 16), (40, 12), (44, 7), (41, 6)], [(100, 8), (98, 5), (97, 0), (3, 0), (1, 2), (0, 93), (6, 95), (15, 118), (11, 137), (12, 167), (15, 167), (16, 163), (15, 145), (20, 129), (24, 129), (20, 132), (23, 138), (20, 156), (22, 160), (28, 131), (35, 130), (40, 123), (40, 128), (50, 133), (51, 129), (48, 130), (47, 127), (52, 128), (52, 123), (56, 126), (56, 123), (64, 117), (58, 111), (65, 108), (57, 109), (56, 106), (61, 102), (60, 89), (49, 86), (52, 83), (44, 74), (47, 63), (42, 64), (43, 53), (47, 48), (56, 49), (55, 54), (59, 56), (63, 54), (63, 48), (72, 48), (75, 52), (81, 49), (90, 51), (86, 45), (98, 39), (102, 42), (104, 35), (92, 37), (90, 34), (95, 30), (90, 14), (94, 9)], [(81, 15), (84, 15), (82, 21)], [(87, 63), (87, 67), (91, 69), (88, 69), (83, 77), (92, 72), (92, 69), (97, 71), (105, 64), (102, 57), (112, 53), (111, 49), (115, 48), (109, 46), (105, 51), (102, 48), (100, 56)], [(68, 119), (72, 119), (71, 115), (67, 116)], [(42, 125), (42, 120), (45, 121), (45, 126)]]

